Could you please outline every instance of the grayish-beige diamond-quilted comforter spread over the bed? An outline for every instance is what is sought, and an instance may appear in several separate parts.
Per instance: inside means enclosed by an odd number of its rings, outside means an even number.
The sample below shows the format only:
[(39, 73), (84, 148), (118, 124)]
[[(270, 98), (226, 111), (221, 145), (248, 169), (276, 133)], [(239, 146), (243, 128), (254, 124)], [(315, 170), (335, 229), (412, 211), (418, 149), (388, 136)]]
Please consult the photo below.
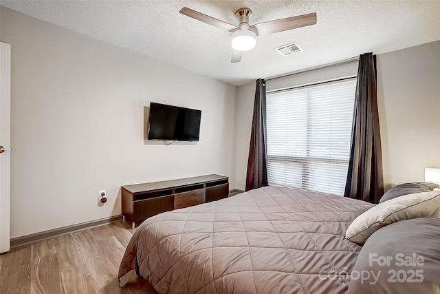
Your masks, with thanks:
[(263, 187), (161, 213), (135, 231), (118, 277), (136, 269), (159, 293), (344, 293), (361, 249), (344, 233), (373, 205)]

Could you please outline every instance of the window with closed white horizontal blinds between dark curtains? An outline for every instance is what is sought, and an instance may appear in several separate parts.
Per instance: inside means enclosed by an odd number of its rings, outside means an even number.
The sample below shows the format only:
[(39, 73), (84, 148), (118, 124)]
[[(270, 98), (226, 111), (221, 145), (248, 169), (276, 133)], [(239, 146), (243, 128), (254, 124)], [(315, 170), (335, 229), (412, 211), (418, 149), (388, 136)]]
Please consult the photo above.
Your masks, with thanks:
[(356, 80), (267, 93), (270, 185), (344, 194)]

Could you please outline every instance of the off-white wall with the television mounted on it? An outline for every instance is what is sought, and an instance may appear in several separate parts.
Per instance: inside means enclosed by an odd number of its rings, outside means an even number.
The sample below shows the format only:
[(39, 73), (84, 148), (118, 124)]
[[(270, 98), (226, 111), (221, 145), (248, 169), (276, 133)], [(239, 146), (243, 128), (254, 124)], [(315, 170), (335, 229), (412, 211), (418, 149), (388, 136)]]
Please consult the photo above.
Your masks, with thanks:
[[(234, 86), (3, 7), (1, 41), (12, 48), (12, 238), (118, 215), (121, 185), (234, 180)], [(201, 109), (199, 143), (144, 145), (150, 101)]]

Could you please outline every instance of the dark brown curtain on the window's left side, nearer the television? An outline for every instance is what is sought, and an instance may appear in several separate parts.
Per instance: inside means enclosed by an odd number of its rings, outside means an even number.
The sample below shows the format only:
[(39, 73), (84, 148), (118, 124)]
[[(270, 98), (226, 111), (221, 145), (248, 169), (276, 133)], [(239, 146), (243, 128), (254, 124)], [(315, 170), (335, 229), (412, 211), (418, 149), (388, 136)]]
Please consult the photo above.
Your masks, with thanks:
[(246, 191), (267, 186), (266, 140), (266, 84), (259, 78), (256, 80)]

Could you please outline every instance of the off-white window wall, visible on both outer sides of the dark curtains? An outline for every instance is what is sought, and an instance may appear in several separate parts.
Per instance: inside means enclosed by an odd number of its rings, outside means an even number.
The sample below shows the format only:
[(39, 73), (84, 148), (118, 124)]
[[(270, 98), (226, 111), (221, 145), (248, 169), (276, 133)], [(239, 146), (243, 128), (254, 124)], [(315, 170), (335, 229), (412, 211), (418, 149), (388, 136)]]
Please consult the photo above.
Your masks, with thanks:
[[(254, 89), (254, 83), (237, 89), (239, 189), (245, 187)], [(440, 41), (378, 55), (377, 103), (385, 188), (424, 180), (424, 167), (440, 167)]]

